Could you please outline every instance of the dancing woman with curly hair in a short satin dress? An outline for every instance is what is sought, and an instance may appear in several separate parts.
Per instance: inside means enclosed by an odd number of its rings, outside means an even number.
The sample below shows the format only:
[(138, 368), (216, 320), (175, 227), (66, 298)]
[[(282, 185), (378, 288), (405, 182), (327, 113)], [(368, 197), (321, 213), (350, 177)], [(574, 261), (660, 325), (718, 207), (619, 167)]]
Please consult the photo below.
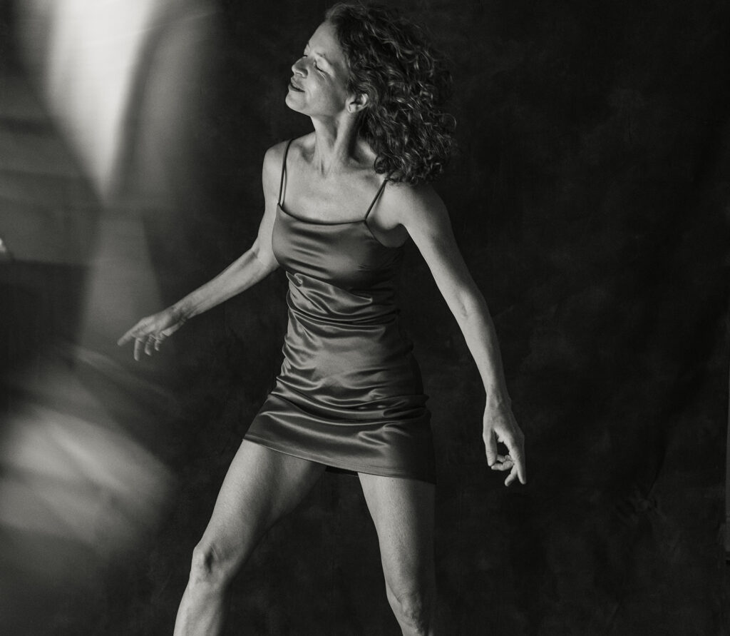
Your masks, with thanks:
[[(487, 306), (428, 181), (451, 148), (440, 110), (449, 75), (421, 31), (384, 7), (338, 4), (293, 64), (286, 104), (314, 132), (269, 148), (265, 211), (251, 249), (119, 344), (151, 354), (186, 319), (283, 266), (284, 362), (231, 463), (193, 564), (174, 633), (218, 634), (226, 588), (262, 534), (329, 467), (358, 474), (404, 634), (434, 625), (434, 461), (426, 396), (393, 302), (411, 238), (483, 379), (488, 464), (525, 482)], [(498, 453), (503, 442), (507, 453)]]

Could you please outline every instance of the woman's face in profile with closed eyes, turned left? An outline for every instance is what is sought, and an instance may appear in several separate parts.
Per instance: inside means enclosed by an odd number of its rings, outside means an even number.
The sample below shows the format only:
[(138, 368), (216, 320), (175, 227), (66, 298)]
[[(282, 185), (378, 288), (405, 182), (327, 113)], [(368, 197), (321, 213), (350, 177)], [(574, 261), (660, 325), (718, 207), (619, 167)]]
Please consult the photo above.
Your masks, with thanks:
[(304, 56), (291, 67), (286, 104), (311, 117), (337, 116), (346, 110), (347, 61), (334, 26), (320, 24), (304, 47)]

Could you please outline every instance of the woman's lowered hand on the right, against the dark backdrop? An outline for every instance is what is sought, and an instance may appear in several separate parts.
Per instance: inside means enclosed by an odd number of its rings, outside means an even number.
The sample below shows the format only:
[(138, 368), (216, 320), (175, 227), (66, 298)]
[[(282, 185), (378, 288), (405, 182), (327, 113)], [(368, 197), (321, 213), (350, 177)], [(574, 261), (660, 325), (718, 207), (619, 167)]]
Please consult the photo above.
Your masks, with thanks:
[[(504, 485), (508, 486), (516, 479), (520, 483), (527, 481), (525, 466), (525, 435), (512, 414), (509, 404), (487, 404), (484, 409), (484, 446), (487, 463), (492, 470), (510, 471)], [(507, 447), (507, 454), (501, 455), (497, 442)]]

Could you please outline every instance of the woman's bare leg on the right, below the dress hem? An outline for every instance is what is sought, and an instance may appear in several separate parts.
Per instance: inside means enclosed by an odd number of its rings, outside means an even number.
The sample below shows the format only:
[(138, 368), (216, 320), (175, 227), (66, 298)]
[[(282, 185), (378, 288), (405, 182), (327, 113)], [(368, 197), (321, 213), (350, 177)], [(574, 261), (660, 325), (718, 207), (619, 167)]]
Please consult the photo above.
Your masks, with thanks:
[(436, 622), (434, 485), (360, 473), (380, 542), (385, 592), (404, 636), (441, 633)]

